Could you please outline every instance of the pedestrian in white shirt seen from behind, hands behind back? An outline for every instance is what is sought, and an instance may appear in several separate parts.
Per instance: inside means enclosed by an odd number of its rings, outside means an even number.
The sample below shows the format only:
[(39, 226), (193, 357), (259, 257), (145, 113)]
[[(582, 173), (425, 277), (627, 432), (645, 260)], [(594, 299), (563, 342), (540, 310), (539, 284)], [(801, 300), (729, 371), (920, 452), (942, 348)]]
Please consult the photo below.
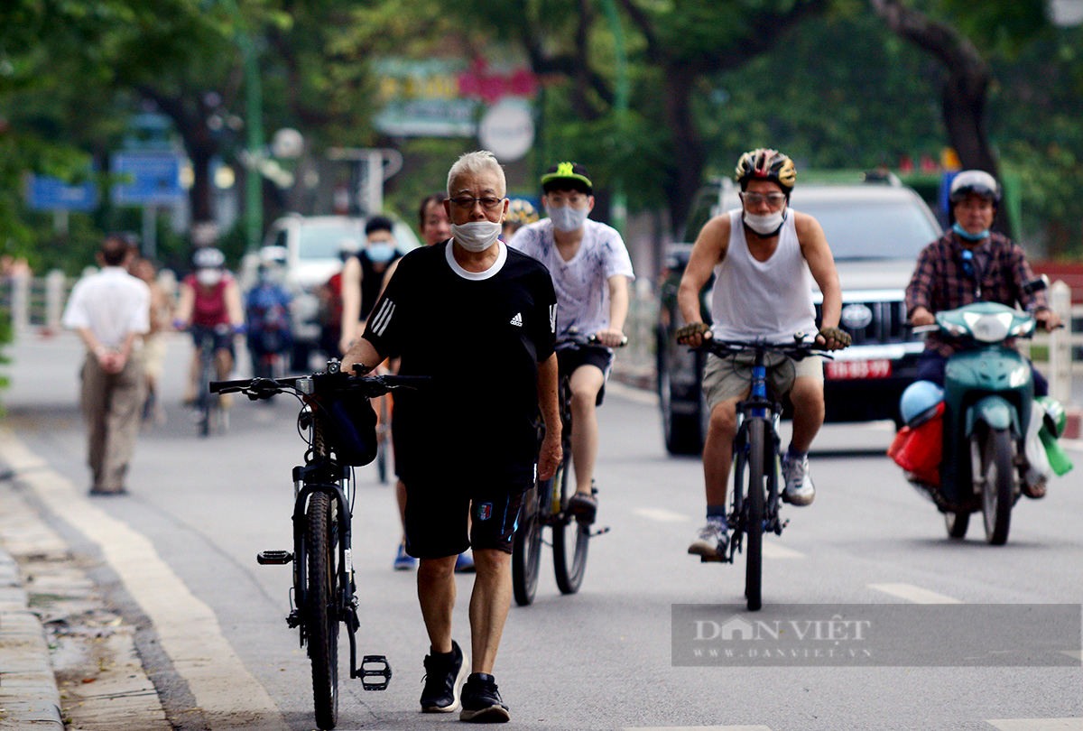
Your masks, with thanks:
[(79, 280), (64, 310), (64, 326), (87, 347), (80, 402), (89, 438), (91, 495), (123, 495), (145, 397), (141, 361), (133, 356), (151, 329), (151, 290), (127, 272), (134, 248), (125, 234), (102, 244), (102, 270)]

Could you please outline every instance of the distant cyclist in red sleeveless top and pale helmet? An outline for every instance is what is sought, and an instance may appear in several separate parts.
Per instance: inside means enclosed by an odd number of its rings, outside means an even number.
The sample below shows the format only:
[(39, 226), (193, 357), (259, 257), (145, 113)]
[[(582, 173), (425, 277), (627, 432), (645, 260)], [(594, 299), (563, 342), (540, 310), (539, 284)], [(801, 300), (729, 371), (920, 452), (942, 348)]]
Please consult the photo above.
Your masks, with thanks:
[[(192, 353), (188, 369), (188, 384), (184, 403), (196, 400), (196, 390), (206, 388), (197, 383), (199, 378), (199, 342), (207, 332), (214, 338), (214, 366), (219, 380), (225, 380), (233, 371), (236, 354), (233, 336), (244, 331), (245, 313), (240, 304), (240, 288), (237, 280), (225, 269), (225, 257), (216, 248), (196, 249), (192, 256), (195, 271), (181, 280), (181, 293), (173, 315), (173, 328), (191, 329), (196, 350)], [(230, 405), (223, 394), (221, 404)]]

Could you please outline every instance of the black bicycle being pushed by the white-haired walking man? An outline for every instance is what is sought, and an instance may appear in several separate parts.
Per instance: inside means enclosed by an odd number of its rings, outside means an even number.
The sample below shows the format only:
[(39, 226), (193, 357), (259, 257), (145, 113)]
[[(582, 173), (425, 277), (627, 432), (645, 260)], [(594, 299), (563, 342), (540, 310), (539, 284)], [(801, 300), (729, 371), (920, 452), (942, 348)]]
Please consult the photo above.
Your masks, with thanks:
[(391, 666), (383, 655), (365, 655), (357, 665), (357, 596), (351, 554), (353, 467), (376, 457), (376, 415), (369, 400), (399, 388), (414, 388), (423, 376), (350, 376), (337, 360), (324, 373), (271, 379), (218, 381), (212, 393), (245, 393), (251, 400), (291, 393), (301, 401), (298, 427), (309, 448), (293, 468), (293, 550), (263, 551), (260, 564), (293, 564), (291, 611), (286, 623), (301, 632), (312, 661), (316, 726), (338, 722), (339, 623), (350, 639), (350, 677), (365, 690), (384, 690)]

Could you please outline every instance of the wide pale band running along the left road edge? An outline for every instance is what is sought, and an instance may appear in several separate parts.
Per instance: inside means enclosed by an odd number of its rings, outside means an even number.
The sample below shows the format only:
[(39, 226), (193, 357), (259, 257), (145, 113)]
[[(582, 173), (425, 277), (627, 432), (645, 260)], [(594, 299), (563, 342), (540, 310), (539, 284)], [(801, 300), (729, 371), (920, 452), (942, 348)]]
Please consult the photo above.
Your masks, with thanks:
[(0, 455), (23, 471), (19, 480), (50, 510), (101, 546), (128, 593), (151, 618), (212, 730), (287, 729), (274, 701), (223, 637), (214, 612), (161, 560), (146, 536), (99, 508), (64, 475), (43, 468), (9, 429), (0, 429)]

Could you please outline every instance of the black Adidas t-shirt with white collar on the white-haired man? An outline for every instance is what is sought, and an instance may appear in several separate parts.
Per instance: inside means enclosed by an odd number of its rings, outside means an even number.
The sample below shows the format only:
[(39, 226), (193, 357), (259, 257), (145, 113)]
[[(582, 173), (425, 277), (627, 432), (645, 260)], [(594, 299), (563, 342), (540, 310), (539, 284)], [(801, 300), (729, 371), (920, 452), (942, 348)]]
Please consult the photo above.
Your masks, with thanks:
[(464, 271), (451, 243), (399, 262), (365, 339), (399, 373), (431, 376), (395, 392), (396, 471), (533, 482), (537, 364), (553, 352), (557, 297), (540, 262), (500, 244), (485, 273)]

